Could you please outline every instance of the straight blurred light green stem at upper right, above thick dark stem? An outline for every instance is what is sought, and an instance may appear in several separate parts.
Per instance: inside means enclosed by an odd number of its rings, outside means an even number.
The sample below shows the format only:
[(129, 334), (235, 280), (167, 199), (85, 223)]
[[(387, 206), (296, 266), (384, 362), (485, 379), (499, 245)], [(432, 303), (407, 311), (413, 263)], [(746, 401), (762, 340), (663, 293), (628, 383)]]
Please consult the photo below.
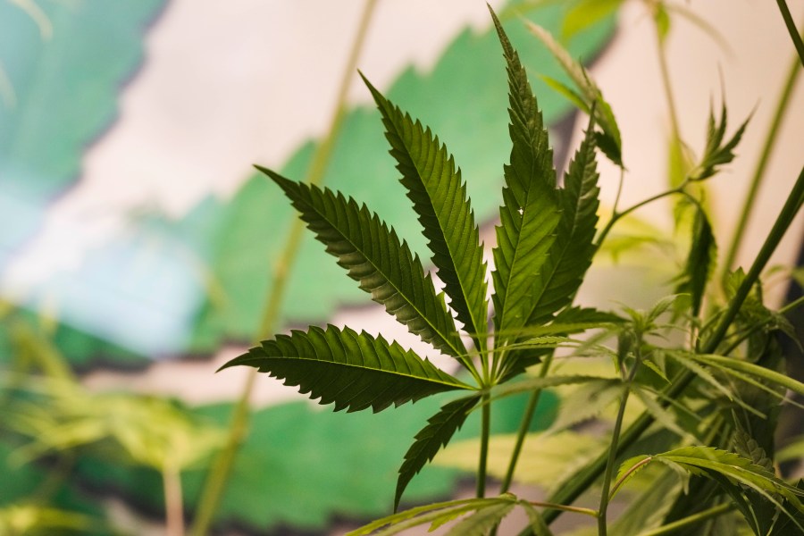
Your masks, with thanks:
[(770, 155), (773, 152), (773, 148), (776, 143), (776, 138), (778, 137), (779, 134), (779, 127), (782, 124), (782, 120), (785, 113), (787, 112), (787, 107), (788, 105), (790, 105), (790, 97), (792, 95), (792, 90), (795, 87), (796, 80), (798, 80), (800, 71), (801, 69), (799, 66), (799, 58), (793, 57), (790, 71), (788, 72), (787, 79), (784, 82), (784, 88), (782, 90), (782, 94), (779, 96), (779, 100), (776, 103), (774, 118), (771, 121), (770, 127), (767, 130), (765, 144), (762, 147), (762, 152), (759, 155), (757, 167), (754, 170), (753, 176), (751, 178), (749, 191), (745, 196), (745, 200), (742, 202), (742, 210), (740, 211), (740, 221), (737, 222), (737, 228), (734, 230), (734, 236), (732, 238), (731, 243), (729, 244), (729, 249), (725, 255), (725, 260), (723, 263), (722, 282), (725, 281), (728, 272), (733, 268), (734, 259), (737, 258), (737, 254), (740, 251), (740, 246), (742, 243), (742, 235), (745, 232), (745, 228), (746, 225), (748, 224), (750, 214), (754, 208), (754, 202), (757, 198), (759, 186), (761, 185), (762, 180), (765, 178), (765, 169), (767, 167), (768, 160), (770, 159)]

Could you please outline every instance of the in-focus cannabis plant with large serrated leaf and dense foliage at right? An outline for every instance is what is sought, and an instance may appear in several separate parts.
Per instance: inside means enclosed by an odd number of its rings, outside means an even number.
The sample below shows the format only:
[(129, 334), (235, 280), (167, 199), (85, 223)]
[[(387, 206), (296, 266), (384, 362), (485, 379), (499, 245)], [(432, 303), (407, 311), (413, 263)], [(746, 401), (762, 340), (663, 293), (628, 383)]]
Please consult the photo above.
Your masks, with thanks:
[[(493, 12), (492, 19), (507, 67), (512, 147), (504, 166), (490, 293), (484, 246), (460, 169), (431, 130), (389, 102), (365, 78), (400, 181), (428, 240), (442, 292), (419, 256), (369, 207), (340, 192), (258, 168), (289, 197), (348, 276), (434, 352), (455, 359), (461, 373), (448, 373), (382, 336), (333, 325), (276, 335), (222, 368), (255, 367), (297, 386), (321, 404), (334, 404), (336, 411), (379, 412), (447, 391), (462, 392), (416, 434), (399, 469), (395, 510), (415, 474), (448, 444), (470, 414), (481, 414), (477, 498), (416, 507), (356, 534), (383, 528), (383, 534), (395, 533), (421, 523), (438, 527), (458, 519), (450, 533), (485, 534), (495, 531), (515, 507), (528, 515), (525, 532), (549, 534), (549, 523), (568, 511), (591, 515), (599, 534), (606, 534), (609, 501), (632, 479), (638, 480), (647, 465), (669, 468), (651, 473), (659, 482), (656, 489), (666, 498), (654, 498), (662, 508), (633, 502), (642, 510), (631, 513), (641, 520), (632, 521), (641, 523), (636, 525), (640, 530), (690, 528), (736, 509), (745, 520), (741, 526), (757, 534), (804, 531), (800, 499), (804, 492), (775, 474), (774, 445), (767, 435), (775, 427), (785, 389), (804, 393), (804, 385), (776, 370), (782, 355), (775, 338), (789, 326), (781, 314), (763, 304), (758, 284), (768, 256), (804, 200), (804, 179), (796, 183), (750, 270), (726, 273), (722, 289), (726, 301), (720, 304), (709, 285), (715, 238), (698, 187), (733, 160), (746, 124), (726, 137), (725, 108), (719, 117), (710, 115), (702, 155), (684, 169), (674, 188), (655, 197), (682, 199), (679, 219), (689, 222), (689, 255), (674, 296), (648, 311), (623, 307), (621, 314), (575, 306), (575, 294), (609, 230), (655, 198), (622, 211), (615, 207), (607, 225), (597, 229), (598, 151), (623, 166), (614, 113), (582, 67), (534, 29), (578, 86), (561, 90), (590, 116), (559, 185), (536, 96)], [(682, 332), (683, 343), (674, 342), (668, 330)], [(595, 335), (580, 339), (583, 331)], [(603, 356), (613, 364), (613, 372), (552, 373), (557, 348), (574, 356)], [(538, 373), (523, 375), (538, 364)], [(594, 395), (616, 402), (606, 448), (570, 475), (547, 502), (507, 493), (541, 389), (570, 385), (581, 385), (578, 390), (587, 399)], [(532, 393), (531, 404), (503, 477), (503, 493), (485, 498), (490, 405), (522, 392)], [(629, 398), (637, 398), (644, 409), (636, 418), (626, 418)], [(589, 415), (579, 412), (565, 424), (584, 416)], [(651, 440), (637, 443), (642, 436)], [(677, 475), (682, 475), (683, 486)], [(599, 507), (573, 507), (574, 499), (595, 482), (601, 488)], [(646, 508), (653, 516), (650, 521)], [(623, 518), (627, 521), (628, 515)], [(622, 525), (619, 530), (624, 530)]]

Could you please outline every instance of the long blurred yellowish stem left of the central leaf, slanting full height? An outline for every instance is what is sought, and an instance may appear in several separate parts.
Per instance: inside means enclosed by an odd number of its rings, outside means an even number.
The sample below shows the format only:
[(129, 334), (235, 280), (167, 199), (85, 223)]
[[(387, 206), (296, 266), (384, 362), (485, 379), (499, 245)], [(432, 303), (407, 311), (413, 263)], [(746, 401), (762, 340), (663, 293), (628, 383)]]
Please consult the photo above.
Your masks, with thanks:
[[(346, 118), (348, 89), (351, 80), (354, 78), (357, 60), (363, 48), (376, 4), (377, 0), (366, 0), (355, 41), (352, 44), (348, 62), (340, 80), (335, 111), (332, 114), (329, 129), (321, 144), (316, 148), (313, 161), (310, 163), (310, 168), (307, 172), (307, 182), (310, 184), (319, 184), (323, 180), (324, 172), (326, 172), (327, 165), (330, 163), (332, 147), (335, 145)], [(266, 299), (264, 313), (256, 333), (257, 339), (270, 337), (278, 323), (281, 305), (288, 286), (289, 267), (296, 260), (303, 230), (304, 222), (294, 219), (280, 261), (274, 266), (272, 272), (272, 285), (269, 283), (271, 291)], [(229, 480), (239, 447), (246, 439), (250, 409), (249, 400), (254, 390), (256, 374), (256, 369), (248, 373), (238, 403), (232, 411), (226, 443), (218, 456), (216, 456), (214, 464), (207, 475), (205, 487), (198, 502), (196, 520), (192, 527), (194, 536), (205, 536), (209, 532), (209, 527), (221, 500), (223, 489)]]

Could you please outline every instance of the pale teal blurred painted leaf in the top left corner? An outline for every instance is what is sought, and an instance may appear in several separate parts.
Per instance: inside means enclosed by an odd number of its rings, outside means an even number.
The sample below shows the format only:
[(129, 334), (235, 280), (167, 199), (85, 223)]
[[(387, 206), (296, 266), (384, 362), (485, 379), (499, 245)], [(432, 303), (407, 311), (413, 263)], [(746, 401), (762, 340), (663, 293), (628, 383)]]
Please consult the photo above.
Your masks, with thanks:
[(0, 2), (0, 270), (46, 205), (78, 180), (164, 1), (40, 3), (49, 37), (15, 4)]

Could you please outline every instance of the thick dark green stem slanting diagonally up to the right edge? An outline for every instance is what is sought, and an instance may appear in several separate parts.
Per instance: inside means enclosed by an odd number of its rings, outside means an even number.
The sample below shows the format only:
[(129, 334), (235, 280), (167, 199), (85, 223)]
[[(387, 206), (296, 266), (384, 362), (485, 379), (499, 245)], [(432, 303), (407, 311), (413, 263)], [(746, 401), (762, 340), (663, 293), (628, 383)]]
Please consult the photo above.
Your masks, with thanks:
[[(801, 170), (798, 180), (796, 180), (796, 183), (793, 185), (791, 194), (789, 197), (787, 197), (787, 201), (784, 203), (779, 216), (776, 218), (774, 227), (768, 233), (765, 243), (760, 249), (754, 264), (751, 265), (749, 273), (742, 281), (740, 288), (737, 289), (736, 295), (732, 298), (731, 302), (729, 302), (729, 307), (723, 315), (718, 328), (708, 339), (707, 344), (705, 348), (702, 349), (701, 353), (713, 353), (724, 339), (726, 331), (733, 322), (737, 312), (740, 310), (740, 307), (745, 301), (745, 298), (748, 296), (750, 289), (757, 282), (759, 273), (765, 268), (770, 255), (775, 251), (775, 248), (782, 240), (784, 232), (790, 227), (793, 218), (795, 218), (796, 214), (798, 214), (802, 202), (804, 202), (804, 169)], [(690, 371), (680, 373), (678, 376), (676, 376), (670, 386), (668, 386), (668, 388), (662, 393), (662, 400), (660, 402), (662, 406), (669, 406), (669, 400), (679, 397), (683, 390), (687, 388), (694, 378), (695, 374), (691, 373)], [(649, 426), (653, 422), (654, 418), (652, 415), (650, 415), (648, 412), (642, 413), (636, 419), (636, 421), (634, 421), (623, 432), (622, 436), (620, 437), (618, 450), (622, 452), (625, 448), (630, 447), (634, 441), (641, 437), (644, 431), (648, 430)], [(598, 479), (600, 474), (603, 473), (607, 464), (607, 459), (608, 453), (604, 451), (600, 456), (583, 467), (578, 473), (575, 473), (567, 481), (571, 483), (565, 485), (560, 490), (557, 490), (557, 492), (549, 498), (549, 502), (562, 505), (572, 504), (572, 502), (578, 498), (584, 490), (589, 489), (589, 487)], [(559, 515), (561, 515), (559, 510), (548, 510), (544, 514), (544, 520), (546, 523), (552, 523)], [(528, 530), (524, 533), (532, 532)]]

